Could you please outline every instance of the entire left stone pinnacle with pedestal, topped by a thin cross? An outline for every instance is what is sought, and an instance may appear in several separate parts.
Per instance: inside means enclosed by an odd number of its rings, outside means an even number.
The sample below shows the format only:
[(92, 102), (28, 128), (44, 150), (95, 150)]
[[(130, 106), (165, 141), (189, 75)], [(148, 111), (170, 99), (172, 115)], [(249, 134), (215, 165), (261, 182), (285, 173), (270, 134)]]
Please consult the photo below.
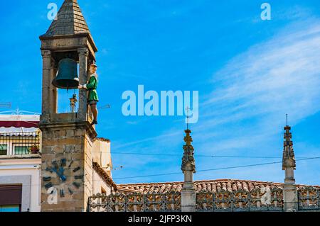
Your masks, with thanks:
[(192, 137), (191, 130), (186, 130), (186, 137), (183, 145), (183, 158), (181, 170), (184, 174), (183, 186), (181, 189), (181, 211), (182, 212), (196, 212), (196, 189), (193, 186), (193, 174), (196, 172), (196, 164), (193, 158), (193, 146), (191, 145)]

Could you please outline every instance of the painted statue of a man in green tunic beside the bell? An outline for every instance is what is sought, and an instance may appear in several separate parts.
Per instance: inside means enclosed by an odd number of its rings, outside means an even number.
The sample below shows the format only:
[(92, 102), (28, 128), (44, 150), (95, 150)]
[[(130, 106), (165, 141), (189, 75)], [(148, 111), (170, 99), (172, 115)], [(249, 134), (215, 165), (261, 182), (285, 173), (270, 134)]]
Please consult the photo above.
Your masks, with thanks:
[(79, 85), (78, 89), (87, 89), (89, 91), (89, 94), (87, 96), (87, 103), (90, 105), (92, 114), (93, 114), (93, 120), (91, 125), (97, 124), (97, 102), (99, 101), (99, 98), (97, 96), (97, 64), (92, 63), (90, 64), (90, 79), (87, 84)]

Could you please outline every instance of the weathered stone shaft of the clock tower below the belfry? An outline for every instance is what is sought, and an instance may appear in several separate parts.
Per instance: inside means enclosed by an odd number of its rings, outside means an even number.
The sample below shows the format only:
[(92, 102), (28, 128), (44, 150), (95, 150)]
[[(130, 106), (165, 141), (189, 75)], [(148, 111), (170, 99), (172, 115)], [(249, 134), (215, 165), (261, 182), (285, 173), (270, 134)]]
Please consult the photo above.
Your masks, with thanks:
[[(50, 181), (44, 181), (41, 189), (43, 211), (58, 211), (58, 210), (85, 210), (87, 197), (91, 195), (92, 189), (92, 145), (88, 141), (87, 128), (82, 127), (70, 132), (70, 129), (64, 127), (65, 123), (60, 126), (60, 130), (56, 127), (50, 128), (46, 125), (46, 130), (52, 129), (54, 132), (46, 132), (43, 135), (43, 167), (42, 175), (50, 176)], [(85, 134), (84, 136), (75, 137), (78, 134)], [(54, 135), (54, 137), (47, 137), (47, 135)], [(66, 159), (66, 166), (63, 175), (66, 176), (65, 182), (50, 171), (46, 171), (46, 167), (51, 167), (53, 160), (60, 164), (61, 159)], [(72, 162), (71, 162), (72, 161)], [(70, 165), (70, 167), (69, 167)], [(46, 167), (44, 167), (46, 166)], [(75, 176), (83, 176), (82, 179), (75, 179)], [(46, 205), (47, 203), (47, 189), (44, 187), (47, 183), (52, 183), (52, 186), (57, 188), (58, 191), (58, 204)], [(75, 186), (76, 182), (79, 187)], [(70, 188), (73, 194), (68, 191)], [(65, 197), (60, 197), (60, 189), (64, 190)], [(70, 206), (68, 206), (70, 205)], [(71, 207), (72, 205), (72, 207)]]

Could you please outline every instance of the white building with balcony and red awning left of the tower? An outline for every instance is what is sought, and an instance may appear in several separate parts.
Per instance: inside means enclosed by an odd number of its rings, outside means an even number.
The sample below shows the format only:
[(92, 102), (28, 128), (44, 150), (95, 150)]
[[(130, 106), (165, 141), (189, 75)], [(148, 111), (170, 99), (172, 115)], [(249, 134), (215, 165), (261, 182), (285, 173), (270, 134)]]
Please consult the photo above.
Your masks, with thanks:
[(41, 210), (39, 115), (0, 115), (0, 212)]

